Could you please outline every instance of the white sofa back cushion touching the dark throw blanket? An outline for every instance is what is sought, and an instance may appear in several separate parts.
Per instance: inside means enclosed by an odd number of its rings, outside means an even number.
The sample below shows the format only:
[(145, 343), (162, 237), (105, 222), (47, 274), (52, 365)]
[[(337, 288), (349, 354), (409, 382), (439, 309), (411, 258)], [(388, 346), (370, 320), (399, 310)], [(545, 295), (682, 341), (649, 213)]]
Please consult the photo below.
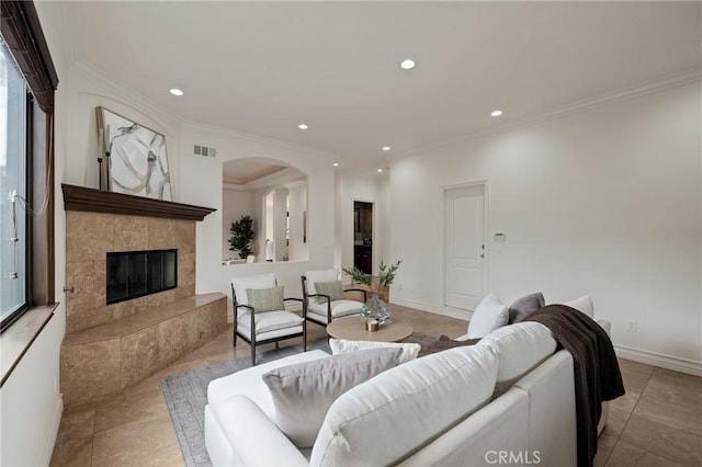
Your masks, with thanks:
[(495, 396), (503, 394), (519, 378), (556, 351), (556, 341), (540, 322), (518, 322), (483, 338), (476, 346), (489, 346), (499, 357)]

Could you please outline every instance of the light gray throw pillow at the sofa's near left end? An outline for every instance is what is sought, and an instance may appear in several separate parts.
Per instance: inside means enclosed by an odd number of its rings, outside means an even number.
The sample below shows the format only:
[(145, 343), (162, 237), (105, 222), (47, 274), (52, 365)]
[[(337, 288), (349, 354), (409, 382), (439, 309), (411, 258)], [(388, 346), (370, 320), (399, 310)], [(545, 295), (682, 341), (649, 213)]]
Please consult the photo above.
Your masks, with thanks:
[(296, 446), (312, 446), (329, 406), (355, 385), (396, 366), (400, 353), (401, 349), (370, 349), (265, 373), (275, 423)]

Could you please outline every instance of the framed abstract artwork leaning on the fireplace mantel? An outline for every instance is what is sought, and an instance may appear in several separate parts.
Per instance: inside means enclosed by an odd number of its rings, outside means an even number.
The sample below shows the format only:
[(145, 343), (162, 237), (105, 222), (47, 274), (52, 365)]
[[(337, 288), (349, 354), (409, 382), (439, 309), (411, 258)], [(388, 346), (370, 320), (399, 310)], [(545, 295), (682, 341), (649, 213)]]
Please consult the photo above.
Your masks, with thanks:
[[(166, 138), (143, 125), (97, 107), (101, 185), (109, 191), (171, 201)], [(104, 159), (103, 159), (104, 157)]]

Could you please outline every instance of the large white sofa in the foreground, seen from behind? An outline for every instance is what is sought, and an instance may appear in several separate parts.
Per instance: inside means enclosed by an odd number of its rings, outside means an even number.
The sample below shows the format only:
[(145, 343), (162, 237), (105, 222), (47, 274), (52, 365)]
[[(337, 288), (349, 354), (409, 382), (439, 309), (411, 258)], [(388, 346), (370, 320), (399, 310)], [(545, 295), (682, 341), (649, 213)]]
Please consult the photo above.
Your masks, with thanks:
[(330, 355), (270, 362), (210, 384), (207, 452), (215, 466), (575, 466), (573, 357), (555, 350), (547, 328), (521, 322), (387, 369), (329, 407), (312, 447), (279, 429), (261, 376)]

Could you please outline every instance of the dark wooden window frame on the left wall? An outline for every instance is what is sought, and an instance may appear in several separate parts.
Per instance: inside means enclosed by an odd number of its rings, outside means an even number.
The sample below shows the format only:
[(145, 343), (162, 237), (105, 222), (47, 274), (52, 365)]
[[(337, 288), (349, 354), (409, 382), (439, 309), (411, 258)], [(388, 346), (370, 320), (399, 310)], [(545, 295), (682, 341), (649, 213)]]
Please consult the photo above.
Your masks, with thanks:
[[(44, 202), (42, 215), (26, 213), (25, 306), (0, 323), (4, 332), (26, 311), (54, 303), (54, 91), (58, 76), (32, 1), (2, 0), (2, 41), (24, 79), (26, 104), (26, 201), (30, 206)], [(39, 203), (43, 204), (43, 203)]]

